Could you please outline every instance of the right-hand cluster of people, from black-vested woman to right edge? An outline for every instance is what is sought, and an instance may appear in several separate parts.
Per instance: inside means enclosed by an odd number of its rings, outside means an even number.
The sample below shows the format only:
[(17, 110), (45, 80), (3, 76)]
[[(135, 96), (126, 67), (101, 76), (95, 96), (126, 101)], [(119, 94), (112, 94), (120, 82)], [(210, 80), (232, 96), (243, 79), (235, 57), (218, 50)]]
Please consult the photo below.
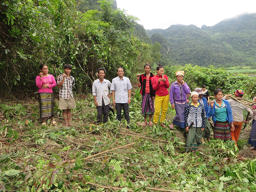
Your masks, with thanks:
[[(202, 137), (209, 140), (211, 119), (214, 139), (238, 142), (243, 122), (248, 122), (253, 117), (253, 112), (249, 107), (244, 106), (237, 100), (226, 100), (226, 97), (230, 95), (225, 95), (223, 98), (223, 90), (221, 89), (214, 91), (215, 99), (210, 102), (206, 85), (203, 85), (202, 88), (195, 88), (191, 92), (189, 86), (183, 80), (184, 71), (175, 73), (177, 80), (171, 84), (168, 92), (170, 85), (167, 75), (164, 75), (164, 67), (159, 64), (156, 68), (156, 76), (150, 73), (150, 69), (151, 66), (147, 63), (144, 65), (145, 73), (137, 75), (137, 85), (141, 87), (140, 93), (142, 94), (143, 127), (147, 125), (146, 115), (149, 115), (149, 126), (153, 126), (151, 122), (153, 114), (153, 122), (157, 124), (160, 112), (160, 125), (166, 127), (164, 121), (170, 102), (172, 109), (176, 111), (176, 116), (169, 127), (174, 129), (174, 125), (176, 125), (183, 129), (186, 128), (186, 132), (188, 132), (186, 150), (201, 144)], [(190, 95), (192, 102), (188, 104)], [(243, 97), (243, 91), (236, 90), (235, 97)], [(243, 110), (248, 112), (247, 120), (243, 118)], [(253, 106), (253, 110), (256, 114), (256, 107)], [(256, 123), (253, 125), (248, 143), (252, 145), (253, 150), (256, 150)]]

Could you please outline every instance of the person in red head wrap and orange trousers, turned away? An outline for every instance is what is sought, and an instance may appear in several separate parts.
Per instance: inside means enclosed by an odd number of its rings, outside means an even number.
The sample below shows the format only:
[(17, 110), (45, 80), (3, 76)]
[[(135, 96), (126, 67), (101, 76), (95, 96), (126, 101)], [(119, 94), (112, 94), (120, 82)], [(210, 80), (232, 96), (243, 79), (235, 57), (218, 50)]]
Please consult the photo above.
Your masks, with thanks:
[[(242, 98), (243, 94), (244, 94), (243, 90), (238, 89), (235, 91), (235, 98)], [(228, 96), (231, 96), (231, 95), (225, 95), (223, 97), (223, 99), (226, 99)], [(239, 103), (236, 100), (229, 99), (228, 102), (229, 102), (231, 110), (232, 110), (234, 127), (235, 127), (235, 129), (233, 131), (231, 130), (231, 138), (232, 138), (232, 140), (236, 141), (236, 143), (237, 143), (243, 122), (245, 122), (244, 117), (243, 117), (243, 110), (246, 110), (249, 113), (248, 121), (253, 118), (253, 112), (249, 107), (244, 106), (243, 104)], [(246, 121), (246, 123), (248, 121)]]

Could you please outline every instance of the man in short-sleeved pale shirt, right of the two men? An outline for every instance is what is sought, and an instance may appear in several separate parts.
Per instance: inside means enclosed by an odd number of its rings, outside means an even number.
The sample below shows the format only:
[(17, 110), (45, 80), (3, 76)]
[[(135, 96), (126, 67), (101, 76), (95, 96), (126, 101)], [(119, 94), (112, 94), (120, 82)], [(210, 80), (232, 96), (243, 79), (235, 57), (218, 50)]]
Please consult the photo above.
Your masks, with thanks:
[(110, 90), (112, 90), (113, 104), (117, 111), (117, 120), (121, 121), (121, 111), (124, 110), (124, 119), (130, 123), (129, 104), (131, 103), (132, 85), (130, 79), (124, 77), (124, 68), (117, 69), (118, 77), (113, 78)]

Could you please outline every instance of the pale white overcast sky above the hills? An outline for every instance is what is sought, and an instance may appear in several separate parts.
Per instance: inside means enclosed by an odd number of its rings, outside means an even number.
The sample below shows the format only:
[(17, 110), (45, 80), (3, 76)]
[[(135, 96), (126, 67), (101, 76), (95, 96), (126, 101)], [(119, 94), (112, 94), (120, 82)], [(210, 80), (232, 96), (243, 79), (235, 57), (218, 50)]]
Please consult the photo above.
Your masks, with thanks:
[(145, 29), (170, 25), (213, 26), (241, 13), (255, 13), (256, 0), (116, 0)]

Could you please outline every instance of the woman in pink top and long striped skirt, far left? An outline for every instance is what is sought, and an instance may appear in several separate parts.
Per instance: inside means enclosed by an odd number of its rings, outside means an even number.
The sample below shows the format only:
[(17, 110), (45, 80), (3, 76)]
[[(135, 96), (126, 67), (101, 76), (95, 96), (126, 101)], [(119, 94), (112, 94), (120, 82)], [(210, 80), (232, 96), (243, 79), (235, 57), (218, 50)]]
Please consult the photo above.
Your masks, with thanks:
[(57, 124), (54, 121), (54, 94), (52, 88), (56, 87), (57, 83), (54, 76), (48, 74), (47, 65), (40, 65), (41, 72), (36, 77), (35, 82), (38, 90), (38, 101), (40, 105), (40, 119), (43, 120), (42, 125), (46, 124), (46, 119), (51, 119), (52, 124)]

